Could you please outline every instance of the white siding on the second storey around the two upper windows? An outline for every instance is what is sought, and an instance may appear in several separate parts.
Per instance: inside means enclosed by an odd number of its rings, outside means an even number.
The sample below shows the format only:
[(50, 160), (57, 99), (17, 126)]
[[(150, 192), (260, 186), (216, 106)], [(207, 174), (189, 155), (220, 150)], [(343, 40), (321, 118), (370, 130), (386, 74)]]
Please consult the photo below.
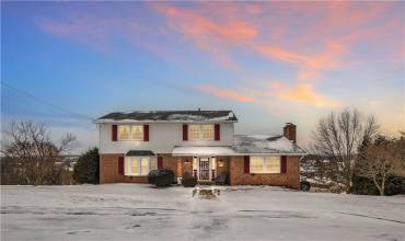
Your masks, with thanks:
[(99, 124), (100, 152), (126, 153), (129, 150), (151, 150), (155, 153), (171, 153), (174, 146), (231, 146), (233, 123), (220, 125), (220, 140), (217, 141), (183, 141), (182, 123), (150, 123), (149, 141), (112, 141), (112, 124)]

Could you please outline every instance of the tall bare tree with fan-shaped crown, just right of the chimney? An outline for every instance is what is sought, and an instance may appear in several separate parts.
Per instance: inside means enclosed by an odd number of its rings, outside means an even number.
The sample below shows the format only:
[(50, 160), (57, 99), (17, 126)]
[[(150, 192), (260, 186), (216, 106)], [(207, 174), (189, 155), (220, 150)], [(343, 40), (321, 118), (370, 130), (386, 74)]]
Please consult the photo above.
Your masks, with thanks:
[(364, 139), (371, 138), (377, 131), (373, 116), (363, 118), (357, 110), (345, 110), (337, 114), (332, 112), (320, 119), (313, 133), (313, 150), (316, 154), (329, 157), (331, 167), (336, 167), (336, 176), (331, 179), (344, 184), (347, 193), (351, 187), (357, 150)]

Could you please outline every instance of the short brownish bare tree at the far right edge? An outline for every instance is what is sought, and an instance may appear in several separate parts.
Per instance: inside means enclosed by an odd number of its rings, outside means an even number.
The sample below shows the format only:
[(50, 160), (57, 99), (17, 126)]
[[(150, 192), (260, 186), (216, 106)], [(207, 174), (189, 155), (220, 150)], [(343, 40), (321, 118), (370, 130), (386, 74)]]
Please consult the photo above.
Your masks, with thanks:
[(379, 136), (362, 150), (358, 174), (373, 181), (380, 195), (385, 193), (385, 182), (391, 175), (405, 174), (405, 139)]

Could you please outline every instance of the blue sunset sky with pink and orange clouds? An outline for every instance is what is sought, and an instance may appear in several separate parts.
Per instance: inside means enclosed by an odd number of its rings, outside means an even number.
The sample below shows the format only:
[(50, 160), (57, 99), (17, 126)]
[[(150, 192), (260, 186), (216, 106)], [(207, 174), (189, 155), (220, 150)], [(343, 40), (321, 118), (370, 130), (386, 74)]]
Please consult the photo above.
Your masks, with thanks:
[(1, 122), (97, 144), (114, 111), (233, 110), (236, 134), (357, 108), (405, 129), (404, 2), (1, 2)]

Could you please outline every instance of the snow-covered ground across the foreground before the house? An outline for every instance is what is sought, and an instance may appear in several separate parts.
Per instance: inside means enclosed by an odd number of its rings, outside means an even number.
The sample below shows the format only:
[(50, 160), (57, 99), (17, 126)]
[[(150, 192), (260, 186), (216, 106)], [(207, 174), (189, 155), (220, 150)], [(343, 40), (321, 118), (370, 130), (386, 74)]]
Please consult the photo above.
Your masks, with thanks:
[(405, 240), (404, 196), (142, 184), (1, 186), (1, 240)]

